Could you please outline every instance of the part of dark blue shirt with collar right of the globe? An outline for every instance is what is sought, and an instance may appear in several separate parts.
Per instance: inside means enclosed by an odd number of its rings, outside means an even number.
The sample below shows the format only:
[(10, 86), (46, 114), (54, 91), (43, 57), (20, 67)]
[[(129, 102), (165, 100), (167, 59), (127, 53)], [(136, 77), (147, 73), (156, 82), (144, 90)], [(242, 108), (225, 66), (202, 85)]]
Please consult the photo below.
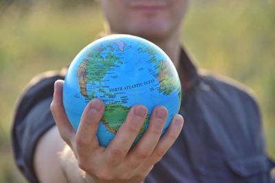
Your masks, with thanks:
[[(184, 129), (146, 178), (153, 182), (272, 182), (259, 108), (250, 91), (197, 71), (184, 51)], [(183, 77), (181, 77), (183, 78)]]

